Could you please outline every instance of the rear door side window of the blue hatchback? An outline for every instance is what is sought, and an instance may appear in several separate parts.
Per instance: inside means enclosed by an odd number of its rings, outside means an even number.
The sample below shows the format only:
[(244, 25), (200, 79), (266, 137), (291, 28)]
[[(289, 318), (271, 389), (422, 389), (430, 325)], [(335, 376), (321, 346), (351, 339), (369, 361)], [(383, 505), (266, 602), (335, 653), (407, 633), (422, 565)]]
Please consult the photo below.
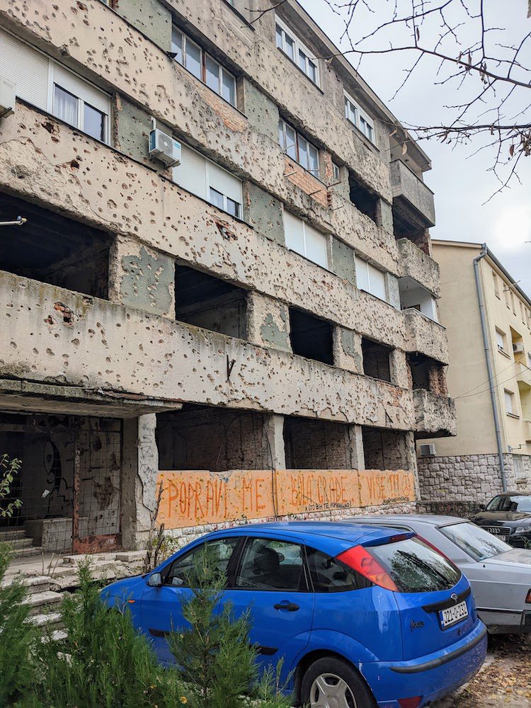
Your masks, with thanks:
[(302, 547), (268, 538), (247, 541), (236, 576), (236, 588), (251, 590), (306, 590)]

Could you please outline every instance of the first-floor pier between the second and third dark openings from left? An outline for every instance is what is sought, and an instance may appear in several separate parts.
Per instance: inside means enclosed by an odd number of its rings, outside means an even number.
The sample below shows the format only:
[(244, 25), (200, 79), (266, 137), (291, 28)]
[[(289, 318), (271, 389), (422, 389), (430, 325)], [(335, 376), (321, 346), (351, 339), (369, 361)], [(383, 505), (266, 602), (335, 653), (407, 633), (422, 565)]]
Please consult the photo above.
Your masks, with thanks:
[(287, 304), (251, 290), (247, 296), (247, 338), (258, 346), (291, 352)]

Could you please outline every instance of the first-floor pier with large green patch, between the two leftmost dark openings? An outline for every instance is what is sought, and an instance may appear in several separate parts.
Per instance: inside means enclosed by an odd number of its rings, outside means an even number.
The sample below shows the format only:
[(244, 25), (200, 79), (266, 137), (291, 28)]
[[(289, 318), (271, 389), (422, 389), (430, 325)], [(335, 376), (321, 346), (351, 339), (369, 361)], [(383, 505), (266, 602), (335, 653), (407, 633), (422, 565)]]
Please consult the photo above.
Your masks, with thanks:
[(109, 299), (173, 319), (174, 259), (118, 236), (110, 253)]

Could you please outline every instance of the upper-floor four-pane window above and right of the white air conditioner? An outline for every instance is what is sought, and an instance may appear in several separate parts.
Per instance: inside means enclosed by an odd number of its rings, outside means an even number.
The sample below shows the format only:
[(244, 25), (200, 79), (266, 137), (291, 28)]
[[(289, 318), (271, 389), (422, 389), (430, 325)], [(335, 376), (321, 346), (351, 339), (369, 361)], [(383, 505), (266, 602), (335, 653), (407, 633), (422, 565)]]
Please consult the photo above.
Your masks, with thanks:
[(171, 30), (171, 51), (175, 54), (176, 62), (188, 69), (196, 79), (207, 84), (225, 101), (236, 105), (236, 78), (233, 74), (175, 25)]

